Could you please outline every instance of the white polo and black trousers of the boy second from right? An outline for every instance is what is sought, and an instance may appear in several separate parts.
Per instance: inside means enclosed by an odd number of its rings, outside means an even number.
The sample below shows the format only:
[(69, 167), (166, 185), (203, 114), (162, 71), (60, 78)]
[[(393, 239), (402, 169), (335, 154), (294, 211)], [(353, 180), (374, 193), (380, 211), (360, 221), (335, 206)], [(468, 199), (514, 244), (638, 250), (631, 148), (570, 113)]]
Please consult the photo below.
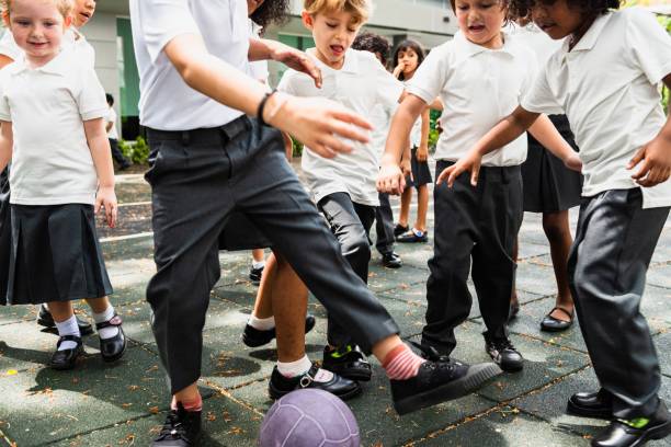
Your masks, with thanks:
[[(457, 33), (431, 51), (408, 92), (427, 103), (440, 96), (445, 105), (444, 130), (434, 156), (436, 176), (518, 106), (535, 69), (531, 49), (508, 37), (501, 49), (491, 50)], [(508, 337), (505, 322), (515, 277), (512, 249), (523, 215), (520, 164), (526, 148), (523, 135), (485, 156), (477, 187), (464, 174), (452, 190), (446, 184), (434, 188), (436, 227), (422, 344), (441, 354), (454, 349), (454, 329), (470, 311), (469, 270), (487, 336)]]

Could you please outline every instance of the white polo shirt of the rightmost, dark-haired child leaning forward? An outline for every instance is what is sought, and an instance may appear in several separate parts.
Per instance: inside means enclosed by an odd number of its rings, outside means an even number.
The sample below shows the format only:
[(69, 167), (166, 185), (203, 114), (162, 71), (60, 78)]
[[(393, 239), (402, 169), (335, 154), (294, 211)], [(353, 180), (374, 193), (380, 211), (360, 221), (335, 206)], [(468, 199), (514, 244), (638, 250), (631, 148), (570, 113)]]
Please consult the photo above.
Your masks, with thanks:
[[(638, 187), (626, 165), (666, 123), (658, 85), (671, 73), (671, 37), (652, 14), (630, 8), (600, 16), (568, 49), (566, 42), (550, 57), (522, 107), (566, 113), (580, 147), (583, 196)], [(644, 208), (671, 205), (671, 182), (641, 191)]]

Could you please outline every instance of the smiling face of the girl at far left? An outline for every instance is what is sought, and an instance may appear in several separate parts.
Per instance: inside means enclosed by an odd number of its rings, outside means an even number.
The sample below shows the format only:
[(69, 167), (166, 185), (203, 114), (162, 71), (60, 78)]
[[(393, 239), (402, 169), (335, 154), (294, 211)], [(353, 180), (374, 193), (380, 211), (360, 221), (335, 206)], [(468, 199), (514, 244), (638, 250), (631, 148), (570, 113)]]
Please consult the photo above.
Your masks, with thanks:
[(64, 18), (52, 0), (14, 0), (9, 26), (16, 45), (33, 64), (46, 64), (60, 51), (70, 18)]

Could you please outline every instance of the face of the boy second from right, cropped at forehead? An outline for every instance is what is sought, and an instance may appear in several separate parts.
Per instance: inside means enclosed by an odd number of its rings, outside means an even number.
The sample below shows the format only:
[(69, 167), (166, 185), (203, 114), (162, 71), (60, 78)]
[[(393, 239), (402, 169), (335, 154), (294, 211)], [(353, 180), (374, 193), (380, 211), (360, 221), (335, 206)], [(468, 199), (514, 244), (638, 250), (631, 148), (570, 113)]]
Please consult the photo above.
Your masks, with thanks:
[(455, 13), (459, 30), (476, 45), (500, 48), (501, 26), (507, 9), (498, 0), (456, 0)]

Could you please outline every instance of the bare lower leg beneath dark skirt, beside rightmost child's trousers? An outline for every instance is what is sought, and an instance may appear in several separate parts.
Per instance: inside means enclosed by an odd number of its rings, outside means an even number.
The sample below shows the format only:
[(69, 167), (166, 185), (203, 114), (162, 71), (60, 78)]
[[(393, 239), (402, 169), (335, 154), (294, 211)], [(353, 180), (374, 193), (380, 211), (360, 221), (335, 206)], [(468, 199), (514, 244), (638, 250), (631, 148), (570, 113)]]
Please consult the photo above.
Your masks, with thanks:
[[(569, 228), (569, 211), (544, 213), (543, 230), (550, 244), (553, 267), (555, 270), (555, 278), (557, 279), (556, 306), (572, 313), (573, 298), (571, 297), (571, 290), (568, 284), (567, 271), (568, 256), (573, 242)], [(555, 310), (550, 313), (550, 317), (562, 321), (570, 320), (569, 317), (560, 310)]]

